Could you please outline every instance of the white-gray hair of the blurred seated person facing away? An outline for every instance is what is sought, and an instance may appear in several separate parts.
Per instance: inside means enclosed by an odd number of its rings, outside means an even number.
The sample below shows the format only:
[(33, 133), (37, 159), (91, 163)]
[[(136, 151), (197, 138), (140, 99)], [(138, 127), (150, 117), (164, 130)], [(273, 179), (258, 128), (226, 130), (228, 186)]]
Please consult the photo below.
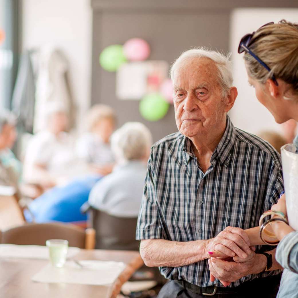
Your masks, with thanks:
[(118, 162), (147, 158), (151, 146), (151, 132), (140, 122), (125, 123), (111, 136), (111, 149)]

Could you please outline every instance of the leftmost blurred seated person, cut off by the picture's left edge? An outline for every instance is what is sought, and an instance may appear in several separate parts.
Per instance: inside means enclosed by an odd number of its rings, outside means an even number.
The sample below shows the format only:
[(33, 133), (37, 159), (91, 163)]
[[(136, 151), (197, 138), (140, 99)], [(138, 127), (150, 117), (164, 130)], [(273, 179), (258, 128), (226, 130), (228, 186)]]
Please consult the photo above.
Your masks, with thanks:
[[(12, 112), (0, 111), (0, 184), (13, 186), (18, 196), (35, 198), (41, 194), (38, 185), (25, 184), (22, 181), (22, 164), (11, 151), (17, 132), (17, 119)], [(20, 193), (19, 193), (20, 192)]]

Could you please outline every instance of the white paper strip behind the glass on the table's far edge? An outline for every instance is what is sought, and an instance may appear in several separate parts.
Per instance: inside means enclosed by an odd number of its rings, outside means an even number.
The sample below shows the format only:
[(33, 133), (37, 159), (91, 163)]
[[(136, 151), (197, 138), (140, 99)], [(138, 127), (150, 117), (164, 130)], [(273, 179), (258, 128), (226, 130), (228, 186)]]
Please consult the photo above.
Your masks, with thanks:
[[(80, 248), (69, 247), (67, 258), (74, 257)], [(49, 259), (49, 248), (42, 245), (0, 244), (0, 258)]]

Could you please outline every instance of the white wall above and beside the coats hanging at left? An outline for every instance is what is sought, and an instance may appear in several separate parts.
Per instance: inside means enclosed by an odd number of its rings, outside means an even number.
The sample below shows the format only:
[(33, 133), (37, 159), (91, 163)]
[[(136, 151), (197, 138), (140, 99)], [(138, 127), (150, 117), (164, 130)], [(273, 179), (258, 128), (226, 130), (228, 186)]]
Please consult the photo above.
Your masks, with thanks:
[(22, 50), (50, 44), (63, 51), (79, 126), (90, 105), (91, 30), (89, 0), (22, 1)]

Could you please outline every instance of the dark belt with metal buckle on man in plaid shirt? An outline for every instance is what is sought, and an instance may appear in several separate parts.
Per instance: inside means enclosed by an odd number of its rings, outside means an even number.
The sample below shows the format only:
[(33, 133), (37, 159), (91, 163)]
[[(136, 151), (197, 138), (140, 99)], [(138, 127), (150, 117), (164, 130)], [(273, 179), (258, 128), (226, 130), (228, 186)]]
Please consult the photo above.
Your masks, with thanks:
[(200, 294), (204, 296), (213, 296), (215, 294), (241, 294), (241, 293), (247, 294), (249, 289), (255, 289), (256, 287), (258, 287), (258, 284), (262, 286), (264, 285), (266, 286), (267, 283), (271, 286), (274, 284), (279, 284), (280, 274), (250, 280), (250, 281), (244, 282), (243, 284), (235, 288), (217, 287), (215, 285), (211, 285), (209, 287), (199, 287), (198, 285), (194, 285), (185, 280), (177, 280), (176, 282), (182, 285), (184, 289), (190, 292), (193, 292), (195, 294)]

